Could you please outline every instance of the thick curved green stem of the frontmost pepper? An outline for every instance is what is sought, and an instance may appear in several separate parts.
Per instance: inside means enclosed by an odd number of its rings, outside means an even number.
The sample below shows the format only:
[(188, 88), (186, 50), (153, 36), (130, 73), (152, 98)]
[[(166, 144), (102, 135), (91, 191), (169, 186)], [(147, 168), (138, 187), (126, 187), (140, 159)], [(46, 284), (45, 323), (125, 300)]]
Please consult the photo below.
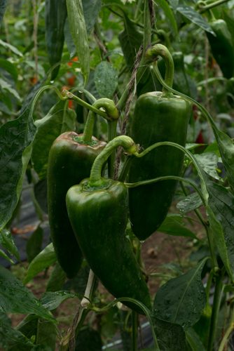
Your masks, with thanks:
[(92, 164), (92, 169), (90, 172), (90, 179), (88, 185), (90, 187), (100, 187), (103, 185), (102, 179), (102, 166), (107, 161), (113, 150), (117, 147), (123, 147), (126, 152), (130, 154), (135, 154), (138, 151), (137, 145), (134, 143), (132, 138), (127, 135), (119, 135), (113, 138), (102, 150), (102, 152), (96, 157), (94, 163)]

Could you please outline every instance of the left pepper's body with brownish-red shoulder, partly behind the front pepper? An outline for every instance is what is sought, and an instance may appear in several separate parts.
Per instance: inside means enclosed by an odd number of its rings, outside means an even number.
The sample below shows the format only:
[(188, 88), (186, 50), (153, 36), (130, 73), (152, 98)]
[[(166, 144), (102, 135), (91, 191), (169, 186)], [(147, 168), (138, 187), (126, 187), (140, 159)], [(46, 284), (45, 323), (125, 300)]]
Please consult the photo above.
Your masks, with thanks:
[(93, 161), (105, 146), (94, 137), (90, 145), (83, 144), (81, 138), (73, 131), (62, 133), (50, 148), (48, 159), (50, 237), (57, 260), (69, 278), (76, 276), (83, 256), (67, 215), (67, 190), (90, 175)]

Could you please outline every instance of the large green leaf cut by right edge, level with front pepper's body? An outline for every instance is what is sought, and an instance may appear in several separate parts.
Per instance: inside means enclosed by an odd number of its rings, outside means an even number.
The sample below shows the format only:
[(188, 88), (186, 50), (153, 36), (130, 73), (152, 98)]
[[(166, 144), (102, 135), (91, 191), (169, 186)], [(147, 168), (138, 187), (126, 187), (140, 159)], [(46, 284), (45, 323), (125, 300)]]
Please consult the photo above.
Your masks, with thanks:
[(234, 281), (234, 196), (216, 183), (208, 182), (207, 189), (209, 225), (223, 265), (230, 279)]

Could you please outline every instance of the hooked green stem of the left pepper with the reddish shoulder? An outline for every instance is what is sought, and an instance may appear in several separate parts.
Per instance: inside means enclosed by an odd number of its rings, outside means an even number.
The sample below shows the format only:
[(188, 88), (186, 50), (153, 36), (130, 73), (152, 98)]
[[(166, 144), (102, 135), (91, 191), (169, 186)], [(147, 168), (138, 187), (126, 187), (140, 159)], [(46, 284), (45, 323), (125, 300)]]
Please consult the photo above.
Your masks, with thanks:
[[(107, 98), (101, 98), (99, 100), (96, 100), (93, 104), (92, 107), (95, 107), (95, 109), (99, 110), (100, 108), (104, 109), (104, 112), (107, 116), (108, 121), (113, 121), (115, 119), (118, 119), (119, 114), (118, 114), (118, 109), (113, 102), (113, 100), (107, 99)], [(83, 131), (83, 141), (84, 143), (89, 143), (92, 140), (92, 131), (93, 131), (93, 126), (95, 123), (95, 112), (89, 111), (88, 112), (88, 118), (85, 123), (85, 128)]]

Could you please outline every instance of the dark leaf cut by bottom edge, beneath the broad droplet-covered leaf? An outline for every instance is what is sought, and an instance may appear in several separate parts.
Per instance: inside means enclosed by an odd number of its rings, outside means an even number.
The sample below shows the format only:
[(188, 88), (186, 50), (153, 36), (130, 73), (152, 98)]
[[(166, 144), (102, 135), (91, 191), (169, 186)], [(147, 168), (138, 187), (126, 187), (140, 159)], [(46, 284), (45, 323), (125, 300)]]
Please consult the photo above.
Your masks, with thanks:
[(154, 328), (160, 350), (186, 351), (186, 337), (184, 330), (178, 324), (172, 324), (153, 318)]

